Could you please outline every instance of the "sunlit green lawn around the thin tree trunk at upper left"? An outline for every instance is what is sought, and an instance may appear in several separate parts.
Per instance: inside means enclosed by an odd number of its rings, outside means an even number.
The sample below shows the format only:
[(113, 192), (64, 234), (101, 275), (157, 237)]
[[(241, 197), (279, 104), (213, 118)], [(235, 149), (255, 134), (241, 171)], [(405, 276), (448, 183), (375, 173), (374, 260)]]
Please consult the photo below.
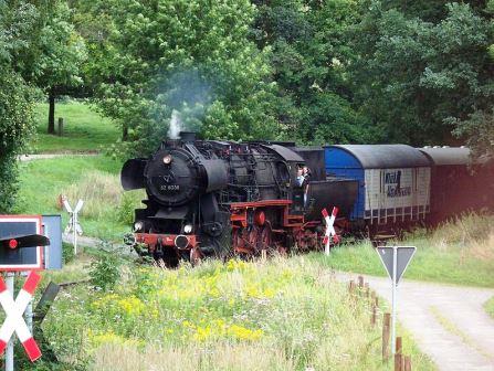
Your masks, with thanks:
[(34, 153), (99, 151), (119, 138), (113, 121), (97, 114), (88, 104), (75, 100), (55, 105), (55, 129), (59, 117), (64, 118), (63, 137), (48, 135), (48, 104), (35, 108), (38, 136), (31, 144)]

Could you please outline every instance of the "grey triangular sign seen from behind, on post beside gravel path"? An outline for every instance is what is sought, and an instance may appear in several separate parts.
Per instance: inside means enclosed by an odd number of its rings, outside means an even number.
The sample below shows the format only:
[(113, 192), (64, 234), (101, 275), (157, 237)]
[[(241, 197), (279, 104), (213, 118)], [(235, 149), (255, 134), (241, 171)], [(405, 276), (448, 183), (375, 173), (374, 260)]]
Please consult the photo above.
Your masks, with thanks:
[(396, 311), (398, 301), (398, 284), (401, 276), (407, 269), (410, 261), (416, 253), (414, 246), (380, 246), (377, 247), (377, 253), (388, 272), (389, 278), (391, 278), (392, 297), (391, 297), (391, 353), (396, 353)]

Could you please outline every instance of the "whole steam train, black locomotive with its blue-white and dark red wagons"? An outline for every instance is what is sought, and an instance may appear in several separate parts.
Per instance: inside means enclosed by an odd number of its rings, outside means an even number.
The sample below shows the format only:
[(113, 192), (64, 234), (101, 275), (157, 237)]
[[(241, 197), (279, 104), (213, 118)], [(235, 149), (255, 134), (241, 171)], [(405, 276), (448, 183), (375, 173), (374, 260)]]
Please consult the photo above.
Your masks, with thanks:
[[(176, 266), (204, 256), (320, 248), (326, 208), (339, 209), (337, 231), (374, 234), (494, 205), (490, 172), (485, 181), (473, 181), (479, 177), (467, 163), (463, 148), (301, 148), (198, 140), (181, 132), (150, 158), (128, 160), (122, 184), (147, 193), (146, 208), (135, 212), (130, 243), (140, 255)], [(466, 197), (464, 187), (472, 184), (475, 193), (487, 194), (482, 203), (474, 202), (474, 192)], [(461, 205), (448, 208), (444, 192), (449, 200), (462, 192)]]

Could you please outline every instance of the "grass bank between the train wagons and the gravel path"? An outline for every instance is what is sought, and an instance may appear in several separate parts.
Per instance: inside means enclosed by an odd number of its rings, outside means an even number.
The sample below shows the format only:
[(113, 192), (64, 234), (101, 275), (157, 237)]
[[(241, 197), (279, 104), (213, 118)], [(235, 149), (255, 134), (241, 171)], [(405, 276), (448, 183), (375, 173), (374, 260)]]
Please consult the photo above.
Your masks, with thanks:
[[(458, 224), (469, 235), (461, 232)], [(417, 246), (404, 278), (441, 282), (455, 285), (494, 287), (494, 244), (492, 216), (466, 215), (433, 233), (417, 232), (399, 245)], [(387, 273), (369, 242), (344, 244), (332, 251), (329, 257), (312, 254), (334, 269), (386, 276)]]

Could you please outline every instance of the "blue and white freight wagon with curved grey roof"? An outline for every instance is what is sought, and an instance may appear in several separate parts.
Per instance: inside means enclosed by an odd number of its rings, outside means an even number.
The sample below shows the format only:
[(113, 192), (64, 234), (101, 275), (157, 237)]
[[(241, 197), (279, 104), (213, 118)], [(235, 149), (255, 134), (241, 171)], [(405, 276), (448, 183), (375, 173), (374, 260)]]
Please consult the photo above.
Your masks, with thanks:
[(430, 212), (431, 165), (406, 145), (325, 147), (328, 177), (358, 180), (350, 221), (367, 225), (422, 221)]

